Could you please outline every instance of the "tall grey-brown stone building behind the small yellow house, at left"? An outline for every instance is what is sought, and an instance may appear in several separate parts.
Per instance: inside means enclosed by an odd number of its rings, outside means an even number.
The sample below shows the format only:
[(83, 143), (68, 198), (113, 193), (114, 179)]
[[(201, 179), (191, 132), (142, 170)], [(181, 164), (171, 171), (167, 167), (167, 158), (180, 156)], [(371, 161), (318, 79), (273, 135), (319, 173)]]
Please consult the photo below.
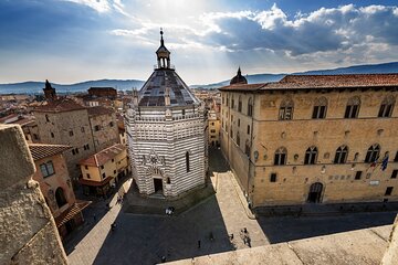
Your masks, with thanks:
[(64, 156), (73, 180), (80, 176), (80, 160), (118, 142), (116, 116), (104, 107), (87, 108), (51, 94), (48, 104), (35, 107), (33, 115), (40, 142), (72, 146)]

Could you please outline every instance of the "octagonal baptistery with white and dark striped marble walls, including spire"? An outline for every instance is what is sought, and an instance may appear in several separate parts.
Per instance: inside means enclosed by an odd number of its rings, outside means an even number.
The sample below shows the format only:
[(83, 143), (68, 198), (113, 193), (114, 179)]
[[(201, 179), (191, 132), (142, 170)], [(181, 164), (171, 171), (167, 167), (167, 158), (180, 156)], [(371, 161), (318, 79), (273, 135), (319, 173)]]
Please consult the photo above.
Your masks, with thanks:
[(170, 52), (160, 34), (158, 64), (139, 93), (133, 92), (127, 137), (139, 192), (174, 198), (205, 186), (206, 114), (201, 102), (170, 66)]

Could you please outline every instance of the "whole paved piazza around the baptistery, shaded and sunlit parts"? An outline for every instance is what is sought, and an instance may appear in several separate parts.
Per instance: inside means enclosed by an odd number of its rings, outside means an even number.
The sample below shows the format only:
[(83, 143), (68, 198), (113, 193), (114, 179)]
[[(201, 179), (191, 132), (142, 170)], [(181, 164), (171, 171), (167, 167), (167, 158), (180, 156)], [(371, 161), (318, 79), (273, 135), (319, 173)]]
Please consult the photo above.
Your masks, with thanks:
[[(323, 218), (260, 218), (254, 220), (219, 150), (210, 151), (216, 195), (179, 215), (125, 213), (113, 198), (93, 203), (86, 225), (66, 244), (69, 261), (80, 264), (156, 264), (249, 247), (240, 231), (247, 227), (251, 246), (391, 224), (396, 213), (362, 213)], [(122, 189), (127, 190), (130, 181)], [(94, 215), (95, 214), (95, 215)], [(115, 231), (111, 224), (116, 221)], [(211, 240), (210, 235), (213, 235)], [(231, 241), (229, 235), (233, 234)], [(200, 241), (200, 247), (198, 246)]]

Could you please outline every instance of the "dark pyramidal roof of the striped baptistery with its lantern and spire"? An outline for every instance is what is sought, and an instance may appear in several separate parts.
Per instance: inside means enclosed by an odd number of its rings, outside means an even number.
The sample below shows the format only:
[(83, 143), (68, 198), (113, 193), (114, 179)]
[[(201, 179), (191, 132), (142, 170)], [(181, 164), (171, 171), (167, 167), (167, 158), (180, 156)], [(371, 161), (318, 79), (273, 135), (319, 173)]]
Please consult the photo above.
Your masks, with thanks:
[[(160, 31), (160, 47), (165, 47), (163, 31)], [(159, 49), (160, 49), (159, 47)], [(158, 51), (159, 51), (158, 49)], [(166, 96), (170, 97), (170, 106), (197, 105), (200, 100), (189, 89), (187, 84), (170, 67), (169, 53), (157, 52), (158, 66), (139, 91), (138, 106), (166, 106)]]

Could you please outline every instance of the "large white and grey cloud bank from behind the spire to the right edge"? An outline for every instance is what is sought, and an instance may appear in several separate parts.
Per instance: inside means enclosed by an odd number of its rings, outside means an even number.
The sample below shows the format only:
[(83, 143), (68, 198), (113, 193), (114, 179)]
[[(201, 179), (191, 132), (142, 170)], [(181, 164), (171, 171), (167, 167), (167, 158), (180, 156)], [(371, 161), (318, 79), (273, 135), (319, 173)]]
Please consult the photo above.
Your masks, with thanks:
[(251, 61), (256, 67), (269, 63), (254, 62), (263, 54), (303, 67), (398, 60), (397, 7), (346, 4), (289, 17), (273, 4), (268, 10), (190, 14), (184, 22), (180, 18), (167, 21), (172, 23), (142, 18), (130, 29), (111, 33), (129, 38), (130, 43), (136, 40), (137, 45), (156, 46), (163, 26), (170, 50), (185, 54), (221, 52), (234, 61)]

